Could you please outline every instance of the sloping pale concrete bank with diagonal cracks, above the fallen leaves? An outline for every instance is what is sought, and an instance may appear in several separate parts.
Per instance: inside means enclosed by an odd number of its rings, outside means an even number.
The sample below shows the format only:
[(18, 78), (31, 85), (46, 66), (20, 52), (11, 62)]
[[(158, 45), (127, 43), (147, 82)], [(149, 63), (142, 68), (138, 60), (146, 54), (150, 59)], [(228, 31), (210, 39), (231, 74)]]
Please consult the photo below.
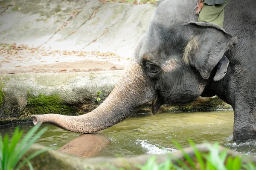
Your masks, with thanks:
[(154, 10), (152, 4), (19, 0), (0, 16), (0, 42), (130, 57)]

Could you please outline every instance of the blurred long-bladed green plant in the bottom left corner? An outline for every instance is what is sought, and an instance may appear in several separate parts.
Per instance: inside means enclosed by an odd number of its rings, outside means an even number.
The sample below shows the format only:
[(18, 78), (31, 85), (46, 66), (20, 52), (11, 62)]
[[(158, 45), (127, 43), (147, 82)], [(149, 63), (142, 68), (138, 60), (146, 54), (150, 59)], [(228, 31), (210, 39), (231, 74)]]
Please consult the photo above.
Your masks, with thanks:
[(23, 161), (21, 159), (29, 150), (31, 145), (34, 144), (35, 141), (37, 141), (38, 138), (47, 130), (47, 127), (44, 127), (42, 130), (36, 133), (39, 127), (40, 124), (29, 130), (22, 140), (21, 137), (23, 135), (23, 130), (19, 130), (19, 127), (15, 128), (10, 140), (7, 134), (3, 139), (0, 134), (0, 170), (18, 170), (26, 163), (28, 164), (30, 170), (33, 170), (32, 164), (29, 160), (45, 152), (48, 150), (48, 148), (38, 150), (25, 158)]

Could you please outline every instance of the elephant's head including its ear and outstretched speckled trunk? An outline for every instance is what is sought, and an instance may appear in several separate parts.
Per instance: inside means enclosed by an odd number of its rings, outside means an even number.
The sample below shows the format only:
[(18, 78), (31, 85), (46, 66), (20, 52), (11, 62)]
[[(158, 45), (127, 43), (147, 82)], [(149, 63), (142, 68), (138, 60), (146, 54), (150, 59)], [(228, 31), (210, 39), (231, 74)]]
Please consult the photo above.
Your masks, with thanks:
[(196, 0), (165, 0), (108, 98), (79, 116), (32, 115), (34, 124), (49, 123), (77, 133), (92, 133), (123, 121), (142, 104), (186, 104), (212, 81), (213, 70), (235, 39), (212, 23), (197, 23)]

